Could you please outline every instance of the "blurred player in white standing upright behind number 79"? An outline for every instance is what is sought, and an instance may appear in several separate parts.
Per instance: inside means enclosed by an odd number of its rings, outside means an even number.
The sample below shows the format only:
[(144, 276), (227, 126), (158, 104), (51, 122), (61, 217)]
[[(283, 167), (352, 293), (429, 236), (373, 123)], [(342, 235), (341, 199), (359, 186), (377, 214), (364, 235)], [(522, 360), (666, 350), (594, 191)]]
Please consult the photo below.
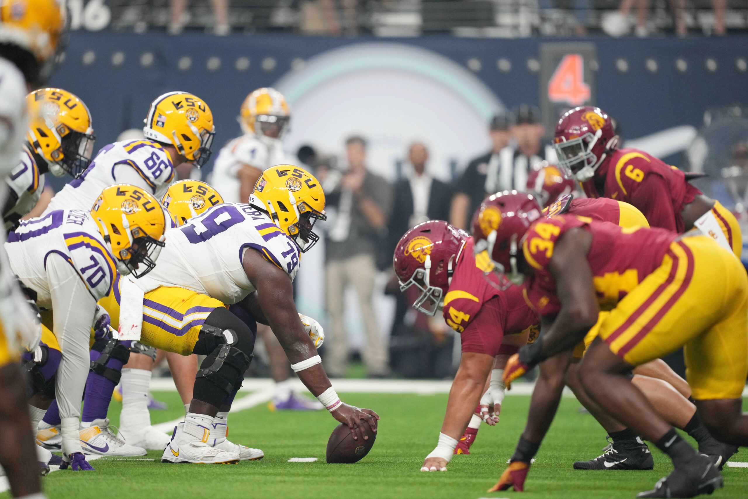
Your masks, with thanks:
[[(242, 102), (239, 125), (244, 135), (229, 141), (215, 159), (211, 185), (229, 203), (246, 203), (257, 179), (268, 168), (292, 162), (283, 150), (283, 135), (291, 111), (281, 92), (275, 88), (257, 88)], [(272, 330), (257, 325), (270, 360), (270, 371), (276, 382), (271, 410), (321, 410), (316, 400), (296, 394), (290, 388), (288, 359)]]

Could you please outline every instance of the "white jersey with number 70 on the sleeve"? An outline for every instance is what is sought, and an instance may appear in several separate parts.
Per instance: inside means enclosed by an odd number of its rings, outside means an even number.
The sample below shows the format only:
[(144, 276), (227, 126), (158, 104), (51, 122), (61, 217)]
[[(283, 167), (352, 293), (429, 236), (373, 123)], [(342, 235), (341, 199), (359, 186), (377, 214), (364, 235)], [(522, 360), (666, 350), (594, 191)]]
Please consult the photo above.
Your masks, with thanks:
[(52, 308), (46, 258), (56, 253), (76, 269), (96, 301), (107, 296), (117, 275), (114, 257), (87, 210), (61, 209), (39, 218), (22, 220), (7, 236), (5, 251), (10, 268), (23, 284), (37, 292), (37, 304)]

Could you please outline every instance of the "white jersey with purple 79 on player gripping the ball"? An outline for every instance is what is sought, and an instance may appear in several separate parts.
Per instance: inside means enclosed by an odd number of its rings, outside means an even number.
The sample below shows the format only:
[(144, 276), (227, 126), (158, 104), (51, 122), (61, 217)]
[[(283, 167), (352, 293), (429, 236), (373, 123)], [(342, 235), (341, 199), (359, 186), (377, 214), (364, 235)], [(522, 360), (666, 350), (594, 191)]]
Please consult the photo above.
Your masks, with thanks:
[(156, 268), (134, 280), (145, 293), (160, 286), (183, 287), (225, 304), (242, 301), (255, 290), (242, 266), (248, 248), (260, 251), (291, 280), (298, 271), (296, 243), (248, 204), (218, 204), (165, 236)]

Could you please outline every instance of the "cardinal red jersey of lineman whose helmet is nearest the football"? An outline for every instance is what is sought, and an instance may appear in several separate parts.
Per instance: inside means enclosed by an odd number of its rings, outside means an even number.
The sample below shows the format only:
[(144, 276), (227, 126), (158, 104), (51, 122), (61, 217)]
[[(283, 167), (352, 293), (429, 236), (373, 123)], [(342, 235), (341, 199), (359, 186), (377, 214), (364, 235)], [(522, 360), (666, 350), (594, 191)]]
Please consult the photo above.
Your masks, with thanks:
[(521, 287), (500, 291), (498, 282), (495, 275), (484, 275), (476, 267), (471, 237), (444, 296), (444, 319), (462, 333), (462, 352), (497, 355), (505, 334), (536, 330), (538, 315), (525, 303)]

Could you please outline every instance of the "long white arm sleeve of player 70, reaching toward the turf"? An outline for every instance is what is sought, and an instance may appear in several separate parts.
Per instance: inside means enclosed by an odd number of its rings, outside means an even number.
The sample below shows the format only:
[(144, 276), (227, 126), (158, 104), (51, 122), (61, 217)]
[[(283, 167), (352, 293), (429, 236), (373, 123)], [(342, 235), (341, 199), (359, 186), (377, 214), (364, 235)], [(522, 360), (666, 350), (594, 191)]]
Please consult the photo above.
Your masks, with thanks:
[[(80, 418), (83, 389), (91, 362), (88, 345), (96, 300), (88, 293), (78, 272), (60, 255), (47, 257), (46, 271), (52, 295), (55, 337), (62, 352), (55, 385), (60, 417)], [(73, 432), (73, 429), (68, 431)], [(74, 435), (63, 432), (62, 446), (67, 456), (82, 452), (77, 428)]]

